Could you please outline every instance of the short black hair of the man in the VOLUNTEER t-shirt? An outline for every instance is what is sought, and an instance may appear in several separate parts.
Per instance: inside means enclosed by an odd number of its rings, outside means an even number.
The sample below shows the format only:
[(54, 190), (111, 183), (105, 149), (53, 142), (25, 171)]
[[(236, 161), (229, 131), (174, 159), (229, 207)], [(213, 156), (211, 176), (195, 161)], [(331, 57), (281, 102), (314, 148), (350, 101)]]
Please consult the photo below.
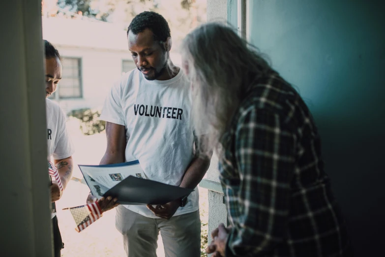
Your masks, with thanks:
[(166, 42), (168, 37), (171, 37), (170, 27), (166, 19), (156, 12), (142, 12), (132, 19), (130, 26), (127, 29), (135, 35), (149, 29), (154, 35), (154, 40), (158, 42)]

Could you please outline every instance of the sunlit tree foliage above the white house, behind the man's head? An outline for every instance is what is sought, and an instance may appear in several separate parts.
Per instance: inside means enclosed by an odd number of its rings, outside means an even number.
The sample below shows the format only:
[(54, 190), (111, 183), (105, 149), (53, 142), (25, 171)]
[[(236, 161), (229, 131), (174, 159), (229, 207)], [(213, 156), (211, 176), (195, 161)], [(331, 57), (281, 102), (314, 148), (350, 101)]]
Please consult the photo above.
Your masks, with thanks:
[(193, 28), (206, 22), (205, 0), (59, 0), (58, 6), (84, 17), (119, 24), (127, 30), (132, 19), (143, 11), (155, 11), (169, 23), (173, 48)]

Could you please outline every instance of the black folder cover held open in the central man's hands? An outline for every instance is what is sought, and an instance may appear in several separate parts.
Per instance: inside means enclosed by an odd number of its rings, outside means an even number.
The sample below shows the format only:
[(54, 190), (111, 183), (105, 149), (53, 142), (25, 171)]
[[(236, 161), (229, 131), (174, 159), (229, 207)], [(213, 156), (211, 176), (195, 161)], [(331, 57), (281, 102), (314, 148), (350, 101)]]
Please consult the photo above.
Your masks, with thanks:
[(130, 205), (162, 205), (189, 195), (193, 189), (181, 188), (157, 181), (128, 176), (112, 187), (104, 197), (118, 198), (120, 204)]

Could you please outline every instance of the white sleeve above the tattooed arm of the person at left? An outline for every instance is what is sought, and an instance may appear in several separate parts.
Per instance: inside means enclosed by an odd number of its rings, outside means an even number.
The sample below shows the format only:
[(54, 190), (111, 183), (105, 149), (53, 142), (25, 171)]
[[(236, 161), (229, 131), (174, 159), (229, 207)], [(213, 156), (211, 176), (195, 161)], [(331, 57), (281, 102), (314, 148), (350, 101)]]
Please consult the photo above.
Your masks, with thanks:
[(65, 124), (65, 120), (66, 120), (65, 115), (61, 111), (61, 109), (59, 109), (58, 115), (60, 115), (60, 119), (59, 119), (60, 124), (58, 124), (58, 126), (60, 126), (58, 128), (59, 140), (58, 140), (58, 143), (56, 145), (55, 151), (52, 154), (52, 156), (54, 157), (55, 160), (61, 160), (61, 159), (68, 158), (68, 157), (72, 156), (73, 153), (75, 152), (74, 146), (72, 144), (71, 138), (69, 136), (69, 133), (68, 133), (68, 130), (67, 130), (67, 127)]

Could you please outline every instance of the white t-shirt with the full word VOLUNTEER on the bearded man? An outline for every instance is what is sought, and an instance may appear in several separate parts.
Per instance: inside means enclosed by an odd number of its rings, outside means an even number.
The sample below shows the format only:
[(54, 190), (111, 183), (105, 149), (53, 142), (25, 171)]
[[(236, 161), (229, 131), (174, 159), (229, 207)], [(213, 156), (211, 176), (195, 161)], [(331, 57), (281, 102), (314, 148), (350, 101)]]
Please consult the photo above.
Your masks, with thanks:
[[(125, 126), (125, 161), (139, 160), (148, 179), (180, 185), (194, 157), (190, 86), (182, 71), (165, 81), (149, 81), (138, 69), (125, 73), (106, 97), (100, 119)], [(144, 205), (124, 206), (159, 218)], [(174, 216), (198, 209), (196, 188)]]

